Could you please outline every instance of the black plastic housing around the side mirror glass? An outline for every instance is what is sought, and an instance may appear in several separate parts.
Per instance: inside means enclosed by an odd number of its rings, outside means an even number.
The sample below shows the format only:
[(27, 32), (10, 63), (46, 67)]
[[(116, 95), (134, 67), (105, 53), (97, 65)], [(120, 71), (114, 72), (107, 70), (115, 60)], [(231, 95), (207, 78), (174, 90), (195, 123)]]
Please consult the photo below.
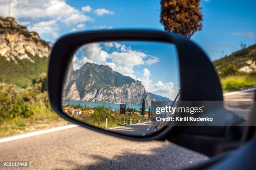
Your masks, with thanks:
[[(71, 56), (81, 45), (104, 41), (153, 41), (176, 45), (180, 68), (180, 100), (222, 101), (223, 94), (215, 68), (205, 52), (187, 37), (172, 32), (157, 30), (100, 30), (77, 32), (60, 37), (52, 48), (49, 59), (48, 89), (53, 109), (64, 119), (101, 133), (136, 141), (165, 140), (174, 127), (166, 126), (161, 133), (134, 137), (106, 131), (83, 124), (64, 114), (61, 95), (64, 78)], [(182, 127), (179, 127), (179, 129)], [(188, 127), (186, 127), (188, 128)], [(180, 130), (178, 130), (180, 131)]]

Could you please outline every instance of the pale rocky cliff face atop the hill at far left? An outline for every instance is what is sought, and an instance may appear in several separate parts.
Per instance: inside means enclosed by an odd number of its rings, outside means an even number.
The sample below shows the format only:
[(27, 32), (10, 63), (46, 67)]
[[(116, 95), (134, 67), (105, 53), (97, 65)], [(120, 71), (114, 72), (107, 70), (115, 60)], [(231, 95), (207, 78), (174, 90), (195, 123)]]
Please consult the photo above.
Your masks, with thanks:
[(17, 59), (27, 59), (34, 63), (28, 52), (33, 56), (48, 57), (50, 47), (41, 40), (38, 33), (29, 32), (14, 18), (0, 16), (0, 55), (15, 63)]

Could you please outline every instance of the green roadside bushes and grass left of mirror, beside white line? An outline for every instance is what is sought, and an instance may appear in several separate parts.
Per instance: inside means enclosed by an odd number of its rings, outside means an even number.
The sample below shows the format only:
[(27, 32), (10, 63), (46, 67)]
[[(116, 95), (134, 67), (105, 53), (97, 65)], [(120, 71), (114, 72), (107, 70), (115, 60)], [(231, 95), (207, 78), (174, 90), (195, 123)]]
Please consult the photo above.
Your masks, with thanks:
[(50, 106), (46, 73), (26, 88), (0, 82), (0, 138), (26, 131), (64, 125)]

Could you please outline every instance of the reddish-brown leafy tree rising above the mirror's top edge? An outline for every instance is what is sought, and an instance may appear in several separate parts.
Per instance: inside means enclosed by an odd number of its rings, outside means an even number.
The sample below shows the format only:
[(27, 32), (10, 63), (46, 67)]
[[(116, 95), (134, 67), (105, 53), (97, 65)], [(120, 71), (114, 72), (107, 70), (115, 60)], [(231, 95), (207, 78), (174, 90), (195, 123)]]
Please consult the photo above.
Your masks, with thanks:
[(191, 37), (202, 30), (200, 0), (161, 0), (161, 24), (164, 30)]

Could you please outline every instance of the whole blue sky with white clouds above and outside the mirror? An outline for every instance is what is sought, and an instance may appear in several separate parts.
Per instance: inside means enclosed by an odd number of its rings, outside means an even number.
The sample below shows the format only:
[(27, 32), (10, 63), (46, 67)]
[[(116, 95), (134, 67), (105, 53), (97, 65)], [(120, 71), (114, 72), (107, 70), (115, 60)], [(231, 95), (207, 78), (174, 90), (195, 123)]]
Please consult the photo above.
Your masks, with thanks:
[[(84, 8), (82, 8), (84, 7)], [(192, 37), (211, 60), (256, 43), (255, 0), (202, 0), (202, 31)], [(153, 28), (160, 24), (160, 0), (11, 0), (10, 15), (45, 40), (74, 30)], [(0, 0), (8, 16), (8, 0)]]

